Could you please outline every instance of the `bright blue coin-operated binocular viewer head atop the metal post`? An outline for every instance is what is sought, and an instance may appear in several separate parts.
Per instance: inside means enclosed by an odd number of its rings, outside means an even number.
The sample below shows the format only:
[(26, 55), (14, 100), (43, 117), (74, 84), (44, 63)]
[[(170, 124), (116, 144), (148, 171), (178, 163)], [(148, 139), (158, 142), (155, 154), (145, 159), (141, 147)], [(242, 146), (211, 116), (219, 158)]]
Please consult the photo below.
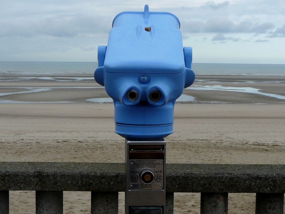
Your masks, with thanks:
[(107, 46), (98, 47), (94, 78), (115, 105), (115, 132), (129, 139), (159, 139), (173, 132), (174, 103), (192, 85), (192, 48), (182, 45), (172, 13), (122, 12)]

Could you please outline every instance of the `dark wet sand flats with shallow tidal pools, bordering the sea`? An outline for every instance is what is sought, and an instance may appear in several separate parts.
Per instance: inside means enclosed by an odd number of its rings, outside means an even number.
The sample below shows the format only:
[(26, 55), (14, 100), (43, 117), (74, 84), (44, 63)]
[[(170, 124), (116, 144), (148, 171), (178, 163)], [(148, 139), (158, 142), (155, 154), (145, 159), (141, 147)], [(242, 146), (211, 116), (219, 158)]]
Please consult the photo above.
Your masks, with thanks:
[[(284, 85), (285, 76), (197, 75), (194, 84), (183, 92), (194, 100), (184, 104), (284, 104)], [(0, 88), (0, 103), (90, 103), (88, 99), (109, 97), (92, 75), (0, 74)]]

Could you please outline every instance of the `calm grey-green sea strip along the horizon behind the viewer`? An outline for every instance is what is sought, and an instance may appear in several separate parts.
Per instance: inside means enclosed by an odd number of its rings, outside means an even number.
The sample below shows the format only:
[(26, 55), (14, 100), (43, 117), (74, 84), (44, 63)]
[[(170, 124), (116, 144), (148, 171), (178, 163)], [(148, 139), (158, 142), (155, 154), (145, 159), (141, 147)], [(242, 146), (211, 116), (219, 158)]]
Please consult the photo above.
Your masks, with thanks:
[[(98, 62), (0, 62), (0, 73), (93, 74)], [(196, 75), (277, 75), (285, 76), (285, 64), (192, 63)]]

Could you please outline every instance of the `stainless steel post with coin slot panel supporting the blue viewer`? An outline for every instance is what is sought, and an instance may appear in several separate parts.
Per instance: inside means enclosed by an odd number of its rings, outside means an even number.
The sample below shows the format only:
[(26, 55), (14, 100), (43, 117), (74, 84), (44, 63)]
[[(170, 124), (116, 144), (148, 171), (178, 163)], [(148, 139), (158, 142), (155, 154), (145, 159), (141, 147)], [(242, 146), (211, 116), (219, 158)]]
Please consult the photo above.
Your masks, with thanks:
[(125, 143), (125, 214), (164, 214), (165, 140)]

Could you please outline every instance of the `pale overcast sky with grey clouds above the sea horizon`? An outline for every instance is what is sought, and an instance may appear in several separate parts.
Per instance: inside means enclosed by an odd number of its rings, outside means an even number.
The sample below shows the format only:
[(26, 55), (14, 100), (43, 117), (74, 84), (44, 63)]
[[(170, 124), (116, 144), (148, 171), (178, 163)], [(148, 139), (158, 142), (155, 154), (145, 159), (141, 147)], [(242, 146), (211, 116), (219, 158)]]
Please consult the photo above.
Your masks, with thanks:
[(0, 61), (97, 62), (115, 15), (167, 11), (196, 63), (285, 64), (284, 0), (9, 0), (0, 7)]

